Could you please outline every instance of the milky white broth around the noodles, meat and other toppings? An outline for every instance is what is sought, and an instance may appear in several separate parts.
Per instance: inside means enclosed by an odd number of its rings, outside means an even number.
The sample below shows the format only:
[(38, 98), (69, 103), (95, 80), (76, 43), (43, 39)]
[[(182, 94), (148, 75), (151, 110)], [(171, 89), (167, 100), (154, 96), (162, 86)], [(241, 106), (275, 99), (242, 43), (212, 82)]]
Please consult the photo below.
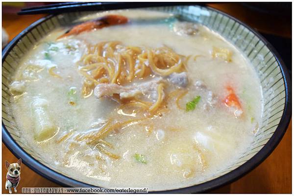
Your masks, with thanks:
[[(142, 10), (114, 13), (127, 16), (130, 20), (167, 16)], [(254, 140), (263, 103), (259, 79), (242, 53), (208, 28), (198, 24), (196, 35), (179, 35), (166, 23), (133, 22), (56, 41), (66, 30), (59, 28), (50, 32), (25, 55), (14, 76), (14, 81), (23, 81), (25, 85), (23, 92), (12, 98), (10, 108), (23, 140), (27, 141), (32, 151), (41, 154), (51, 168), (58, 168), (76, 180), (96, 186), (148, 187), (149, 191), (174, 189), (197, 184), (224, 170), (238, 160)], [(146, 131), (148, 126), (138, 124), (108, 134), (104, 140), (114, 146), (111, 152), (120, 155), (118, 160), (84, 141), (76, 142), (72, 137), (57, 142), (69, 131), (73, 134), (99, 131), (96, 125), (118, 112), (118, 103), (109, 97), (98, 99), (91, 95), (83, 98), (81, 95), (83, 76), (75, 64), (85, 51), (85, 43), (103, 41), (120, 41), (124, 45), (151, 48), (166, 45), (178, 54), (192, 55), (187, 63), (189, 84), (200, 81), (205, 85), (202, 90), (189, 88), (188, 94), (181, 100), (185, 108), (187, 102), (201, 96), (192, 111), (178, 109), (174, 100), (170, 100), (170, 112), (163, 112), (162, 116), (151, 120), (154, 124), (152, 132)], [(51, 42), (55, 47), (53, 49), (48, 44)], [(214, 47), (230, 50), (232, 61), (213, 58)], [(50, 56), (49, 60), (45, 60), (46, 53)], [(27, 68), (31, 65), (38, 68)], [(49, 74), (52, 66), (61, 78)], [(234, 88), (241, 102), (244, 110), (241, 117), (236, 117), (223, 103), (227, 84)], [(76, 89), (75, 106), (69, 104), (71, 87)], [(209, 109), (205, 108), (208, 92), (217, 97), (216, 104)], [(41, 142), (36, 141), (34, 136), (35, 129), (38, 129), (33, 117), (36, 97), (46, 101), (51, 126), (59, 129), (53, 137)], [(119, 116), (119, 120), (126, 117), (123, 113)], [(73, 145), (71, 150), (70, 144)], [(136, 153), (144, 155), (145, 163), (134, 158)], [(102, 154), (105, 161), (98, 160), (98, 154)]]

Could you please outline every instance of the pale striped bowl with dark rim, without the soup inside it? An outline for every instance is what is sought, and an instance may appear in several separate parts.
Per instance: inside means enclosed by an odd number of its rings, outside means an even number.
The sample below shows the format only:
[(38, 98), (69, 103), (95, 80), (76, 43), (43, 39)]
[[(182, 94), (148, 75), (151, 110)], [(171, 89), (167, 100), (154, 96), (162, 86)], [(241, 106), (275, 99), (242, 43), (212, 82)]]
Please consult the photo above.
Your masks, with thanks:
[[(234, 44), (254, 66), (259, 76), (264, 112), (256, 140), (250, 148), (231, 164), (213, 176), (186, 188), (174, 187), (162, 191), (173, 193), (206, 192), (230, 183), (245, 175), (266, 159), (283, 137), (291, 118), (291, 81), (287, 68), (272, 45), (255, 30), (218, 10), (202, 6), (153, 7), (150, 10), (180, 15), (183, 19), (199, 22), (219, 33)], [(91, 187), (74, 179), (70, 174), (53, 167), (43, 155), (34, 152), (29, 144), (21, 140), (21, 131), (16, 128), (10, 105), (9, 84), (21, 58), (40, 39), (59, 26), (71, 25), (76, 19), (94, 12), (73, 12), (50, 15), (32, 23), (15, 37), (2, 51), (2, 141), (7, 148), (32, 170), (64, 186)]]

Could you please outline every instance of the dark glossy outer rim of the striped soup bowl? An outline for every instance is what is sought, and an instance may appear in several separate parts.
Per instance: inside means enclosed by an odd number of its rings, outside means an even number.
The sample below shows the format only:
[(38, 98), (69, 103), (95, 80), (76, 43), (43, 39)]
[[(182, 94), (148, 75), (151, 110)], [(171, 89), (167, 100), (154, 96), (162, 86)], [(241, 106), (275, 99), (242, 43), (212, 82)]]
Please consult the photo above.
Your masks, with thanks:
[[(193, 5), (191, 5), (193, 6)], [(205, 7), (207, 9), (210, 9), (212, 11), (215, 11), (221, 15), (224, 15), (228, 17), (229, 19), (238, 22), (245, 26), (249, 31), (251, 31), (258, 39), (260, 39), (270, 50), (270, 52), (274, 55), (280, 69), (281, 73), (283, 75), (284, 80), (284, 87), (285, 87), (285, 107), (283, 110), (283, 114), (280, 120), (280, 123), (278, 124), (276, 130), (270, 137), (269, 141), (265, 144), (265, 146), (257, 152), (253, 157), (251, 157), (248, 161), (246, 161), (243, 165), (239, 166), (238, 168), (232, 170), (229, 173), (226, 173), (224, 175), (221, 175), (220, 177), (217, 177), (215, 179), (209, 180), (207, 182), (192, 185), (185, 188), (179, 188), (179, 189), (172, 189), (172, 190), (163, 190), (163, 191), (154, 191), (152, 193), (199, 193), (199, 192), (208, 192), (210, 190), (217, 189), (221, 186), (227, 185), (245, 174), (249, 173), (251, 170), (256, 168), (259, 164), (261, 164), (269, 155), (270, 153), (276, 148), (276, 146), (279, 144), (280, 140), (282, 139), (283, 135), (285, 134), (288, 125), (290, 123), (290, 119), (292, 116), (292, 88), (291, 88), (291, 79), (288, 72), (288, 69), (281, 59), (280, 55), (278, 54), (277, 50), (256, 30), (254, 30), (252, 27), (245, 24), (245, 22), (241, 22), (238, 19), (220, 11), (212, 7), (208, 6), (202, 6), (197, 5), (200, 7)], [(33, 22), (28, 27), (26, 27), (20, 34), (18, 34), (12, 41), (9, 42), (9, 44), (6, 45), (6, 47), (2, 50), (2, 64), (10, 50), (18, 43), (18, 41), (23, 38), (27, 33), (30, 32), (35, 26), (38, 24), (41, 24), (42, 22), (45, 22), (52, 17), (56, 15), (48, 15), (46, 17), (43, 17), (39, 19), (36, 22)], [(42, 175), (43, 177), (60, 184), (64, 187), (95, 187), (93, 185), (75, 180), (71, 177), (68, 177), (64, 174), (60, 174), (49, 167), (45, 166), (44, 164), (40, 163), (38, 160), (33, 158), (31, 155), (29, 155), (27, 152), (25, 152), (24, 149), (12, 138), (12, 136), (7, 131), (5, 125), (2, 121), (2, 142), (5, 144), (5, 146), (17, 157), (22, 158), (23, 162), (26, 166), (28, 166), (31, 170), (36, 172), (37, 174)]]

